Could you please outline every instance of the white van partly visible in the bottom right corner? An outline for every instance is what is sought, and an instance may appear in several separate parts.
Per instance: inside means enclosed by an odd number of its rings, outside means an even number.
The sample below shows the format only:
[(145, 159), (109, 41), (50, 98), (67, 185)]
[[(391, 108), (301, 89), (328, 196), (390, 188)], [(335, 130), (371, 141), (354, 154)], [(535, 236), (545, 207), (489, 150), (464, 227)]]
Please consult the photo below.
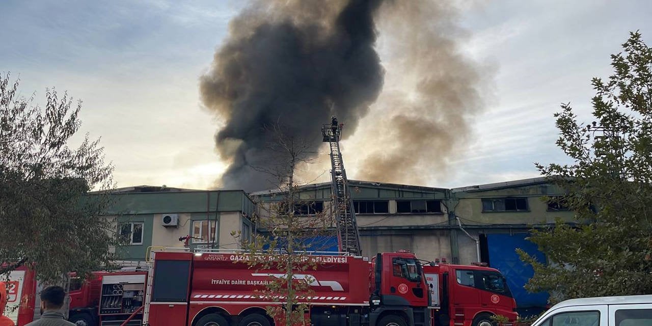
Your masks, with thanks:
[(563, 301), (532, 326), (652, 326), (652, 295)]

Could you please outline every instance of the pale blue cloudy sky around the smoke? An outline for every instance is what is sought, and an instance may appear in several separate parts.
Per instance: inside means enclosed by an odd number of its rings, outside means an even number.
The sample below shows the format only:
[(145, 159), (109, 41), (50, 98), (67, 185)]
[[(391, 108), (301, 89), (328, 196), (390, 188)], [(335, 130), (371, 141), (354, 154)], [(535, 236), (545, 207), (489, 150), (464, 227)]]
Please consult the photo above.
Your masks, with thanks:
[[(473, 133), (423, 186), (481, 185), (537, 177), (534, 162), (567, 162), (553, 114), (571, 102), (590, 122), (592, 77), (630, 31), (652, 44), (650, 1), (460, 1), (464, 55), (488, 67), (490, 92)], [(46, 87), (83, 101), (80, 134), (101, 137), (117, 186), (213, 188), (226, 165), (215, 151), (223, 125), (198, 91), (231, 18), (246, 1), (0, 1), (0, 72), (44, 103)], [(379, 31), (382, 35), (382, 31)], [(383, 59), (383, 51), (379, 55)], [(387, 74), (391, 76), (391, 74)], [(388, 81), (385, 81), (388, 83)], [(364, 169), (374, 107), (342, 143), (349, 178)], [(327, 170), (327, 152), (321, 153)], [(325, 159), (323, 158), (325, 156)], [(327, 173), (316, 180), (326, 181)]]

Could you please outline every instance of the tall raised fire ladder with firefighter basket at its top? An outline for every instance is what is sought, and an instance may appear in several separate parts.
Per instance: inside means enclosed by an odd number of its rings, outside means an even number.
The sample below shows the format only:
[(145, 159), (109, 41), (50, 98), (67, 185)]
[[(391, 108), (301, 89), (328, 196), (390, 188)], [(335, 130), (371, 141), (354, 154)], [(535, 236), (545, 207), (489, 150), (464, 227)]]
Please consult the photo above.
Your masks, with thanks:
[(355, 221), (353, 198), (349, 196), (349, 185), (340, 153), (340, 134), (342, 125), (337, 124), (333, 117), (331, 125), (321, 128), (323, 141), (331, 147), (331, 191), (333, 192), (334, 216), (337, 222), (338, 244), (341, 252), (349, 252), (355, 256), (362, 255), (360, 235)]

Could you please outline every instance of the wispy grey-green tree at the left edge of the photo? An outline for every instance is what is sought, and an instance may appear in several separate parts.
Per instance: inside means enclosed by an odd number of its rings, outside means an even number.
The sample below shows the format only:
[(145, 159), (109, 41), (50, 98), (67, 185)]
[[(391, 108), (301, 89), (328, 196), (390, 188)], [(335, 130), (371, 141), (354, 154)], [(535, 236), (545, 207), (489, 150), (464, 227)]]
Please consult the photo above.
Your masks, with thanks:
[(27, 265), (46, 282), (70, 271), (86, 274), (111, 260), (115, 228), (102, 212), (113, 167), (104, 164), (99, 140), (80, 128), (82, 102), (46, 90), (44, 107), (19, 95), (19, 81), (0, 74), (0, 276)]

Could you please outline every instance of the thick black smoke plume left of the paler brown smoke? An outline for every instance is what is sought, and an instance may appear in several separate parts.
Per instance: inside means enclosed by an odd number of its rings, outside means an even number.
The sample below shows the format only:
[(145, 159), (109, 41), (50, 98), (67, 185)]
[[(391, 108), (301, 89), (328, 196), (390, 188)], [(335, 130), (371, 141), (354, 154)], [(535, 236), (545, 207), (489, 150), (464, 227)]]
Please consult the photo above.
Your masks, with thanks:
[(231, 22), (230, 36), (200, 78), (204, 106), (226, 120), (216, 148), (230, 166), (226, 188), (269, 188), (269, 127), (321, 145), (331, 115), (349, 134), (383, 85), (374, 49), (381, 0), (258, 2)]

